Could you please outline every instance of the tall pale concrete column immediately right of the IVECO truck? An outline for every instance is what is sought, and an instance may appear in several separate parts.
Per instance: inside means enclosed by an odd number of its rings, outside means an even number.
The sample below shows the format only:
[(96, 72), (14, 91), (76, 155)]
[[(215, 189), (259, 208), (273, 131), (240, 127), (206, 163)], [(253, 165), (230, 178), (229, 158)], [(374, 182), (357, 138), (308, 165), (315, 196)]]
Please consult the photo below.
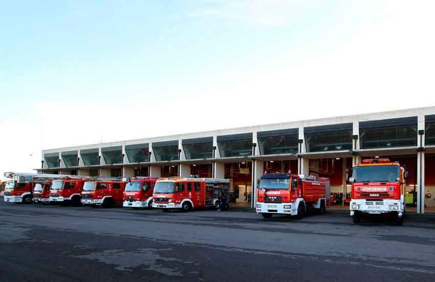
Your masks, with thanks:
[(418, 135), (417, 146), (417, 213), (424, 213), (425, 203), (425, 187), (424, 187), (424, 134), (425, 134), (425, 120), (424, 115), (418, 116)]

